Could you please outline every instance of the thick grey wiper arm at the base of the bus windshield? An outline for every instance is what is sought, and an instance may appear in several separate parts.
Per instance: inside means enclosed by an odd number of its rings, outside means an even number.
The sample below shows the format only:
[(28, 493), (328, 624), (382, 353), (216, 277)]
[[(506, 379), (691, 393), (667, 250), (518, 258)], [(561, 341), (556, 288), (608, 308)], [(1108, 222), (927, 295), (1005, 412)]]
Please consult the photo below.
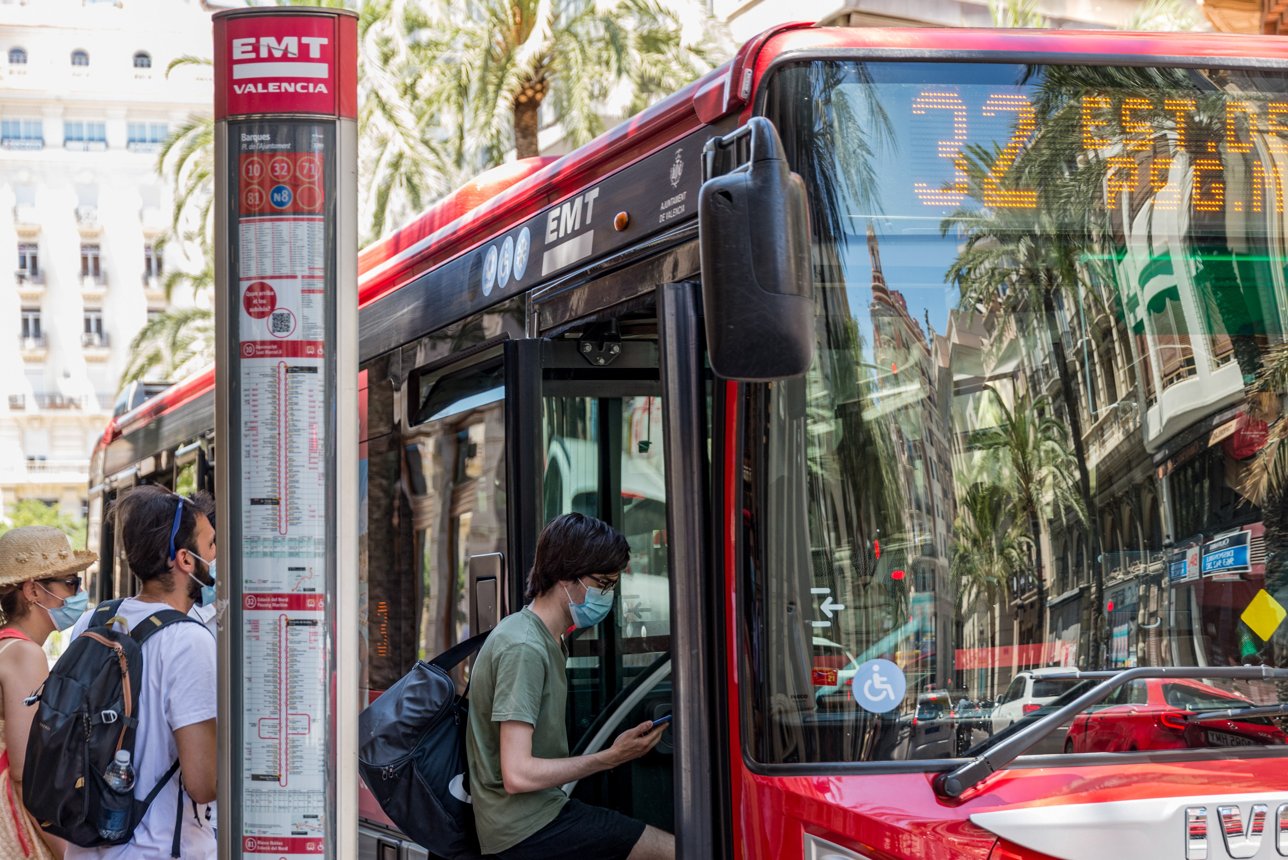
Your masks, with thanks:
[(1276, 669), (1269, 666), (1218, 666), (1218, 667), (1202, 667), (1202, 666), (1142, 666), (1135, 669), (1123, 669), (1121, 672), (1060, 672), (1059, 675), (1050, 675), (1045, 677), (1068, 677), (1068, 678), (1105, 678), (1103, 682), (1097, 684), (1092, 689), (1087, 690), (1079, 695), (1073, 702), (1065, 704), (1061, 708), (1056, 708), (1051, 713), (1043, 716), (1034, 724), (1016, 731), (1014, 735), (1003, 739), (996, 747), (989, 749), (987, 753), (981, 753), (975, 758), (970, 760), (961, 767), (948, 774), (940, 774), (935, 778), (934, 787), (935, 794), (943, 799), (952, 799), (961, 797), (967, 789), (979, 785), (981, 781), (988, 779), (992, 774), (1005, 769), (1012, 761), (1023, 756), (1029, 751), (1036, 743), (1046, 738), (1048, 734), (1064, 725), (1065, 721), (1073, 718), (1082, 711), (1086, 711), (1094, 704), (1099, 704), (1109, 696), (1117, 687), (1127, 684), (1128, 681), (1135, 681), (1137, 678), (1149, 677), (1170, 677), (1170, 678), (1244, 678), (1244, 680), (1285, 680), (1288, 678), (1288, 669)]

